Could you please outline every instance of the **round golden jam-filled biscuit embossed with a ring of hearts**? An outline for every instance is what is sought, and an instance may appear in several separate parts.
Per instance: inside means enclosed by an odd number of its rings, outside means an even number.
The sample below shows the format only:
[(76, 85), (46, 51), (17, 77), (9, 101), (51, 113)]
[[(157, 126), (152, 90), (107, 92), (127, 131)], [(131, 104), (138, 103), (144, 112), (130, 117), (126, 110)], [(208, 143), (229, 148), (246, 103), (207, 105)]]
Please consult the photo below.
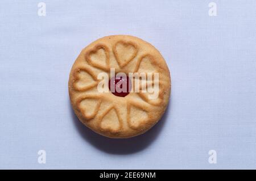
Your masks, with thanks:
[(138, 37), (114, 35), (82, 49), (68, 89), (83, 124), (106, 137), (128, 138), (148, 131), (162, 117), (171, 78), (155, 47)]

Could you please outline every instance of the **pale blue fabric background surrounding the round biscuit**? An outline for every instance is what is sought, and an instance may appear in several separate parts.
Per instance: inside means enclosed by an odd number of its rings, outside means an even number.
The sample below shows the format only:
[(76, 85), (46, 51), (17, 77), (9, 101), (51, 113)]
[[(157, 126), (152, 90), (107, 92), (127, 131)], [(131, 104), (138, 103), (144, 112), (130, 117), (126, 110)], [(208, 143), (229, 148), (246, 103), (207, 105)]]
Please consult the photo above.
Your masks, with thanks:
[[(1, 169), (256, 169), (256, 1), (39, 2), (0, 1)], [(153, 44), (172, 77), (163, 119), (129, 140), (82, 126), (68, 97), (81, 49), (115, 34)]]

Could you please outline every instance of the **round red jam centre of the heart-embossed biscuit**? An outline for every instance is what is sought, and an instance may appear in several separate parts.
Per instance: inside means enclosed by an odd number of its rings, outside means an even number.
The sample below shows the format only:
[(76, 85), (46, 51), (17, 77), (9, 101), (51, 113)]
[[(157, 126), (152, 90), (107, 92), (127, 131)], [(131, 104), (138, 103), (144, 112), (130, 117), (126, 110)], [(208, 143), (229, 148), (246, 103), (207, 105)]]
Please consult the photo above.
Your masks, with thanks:
[(125, 97), (131, 91), (131, 81), (129, 77), (112, 77), (109, 80), (109, 90), (115, 96)]

